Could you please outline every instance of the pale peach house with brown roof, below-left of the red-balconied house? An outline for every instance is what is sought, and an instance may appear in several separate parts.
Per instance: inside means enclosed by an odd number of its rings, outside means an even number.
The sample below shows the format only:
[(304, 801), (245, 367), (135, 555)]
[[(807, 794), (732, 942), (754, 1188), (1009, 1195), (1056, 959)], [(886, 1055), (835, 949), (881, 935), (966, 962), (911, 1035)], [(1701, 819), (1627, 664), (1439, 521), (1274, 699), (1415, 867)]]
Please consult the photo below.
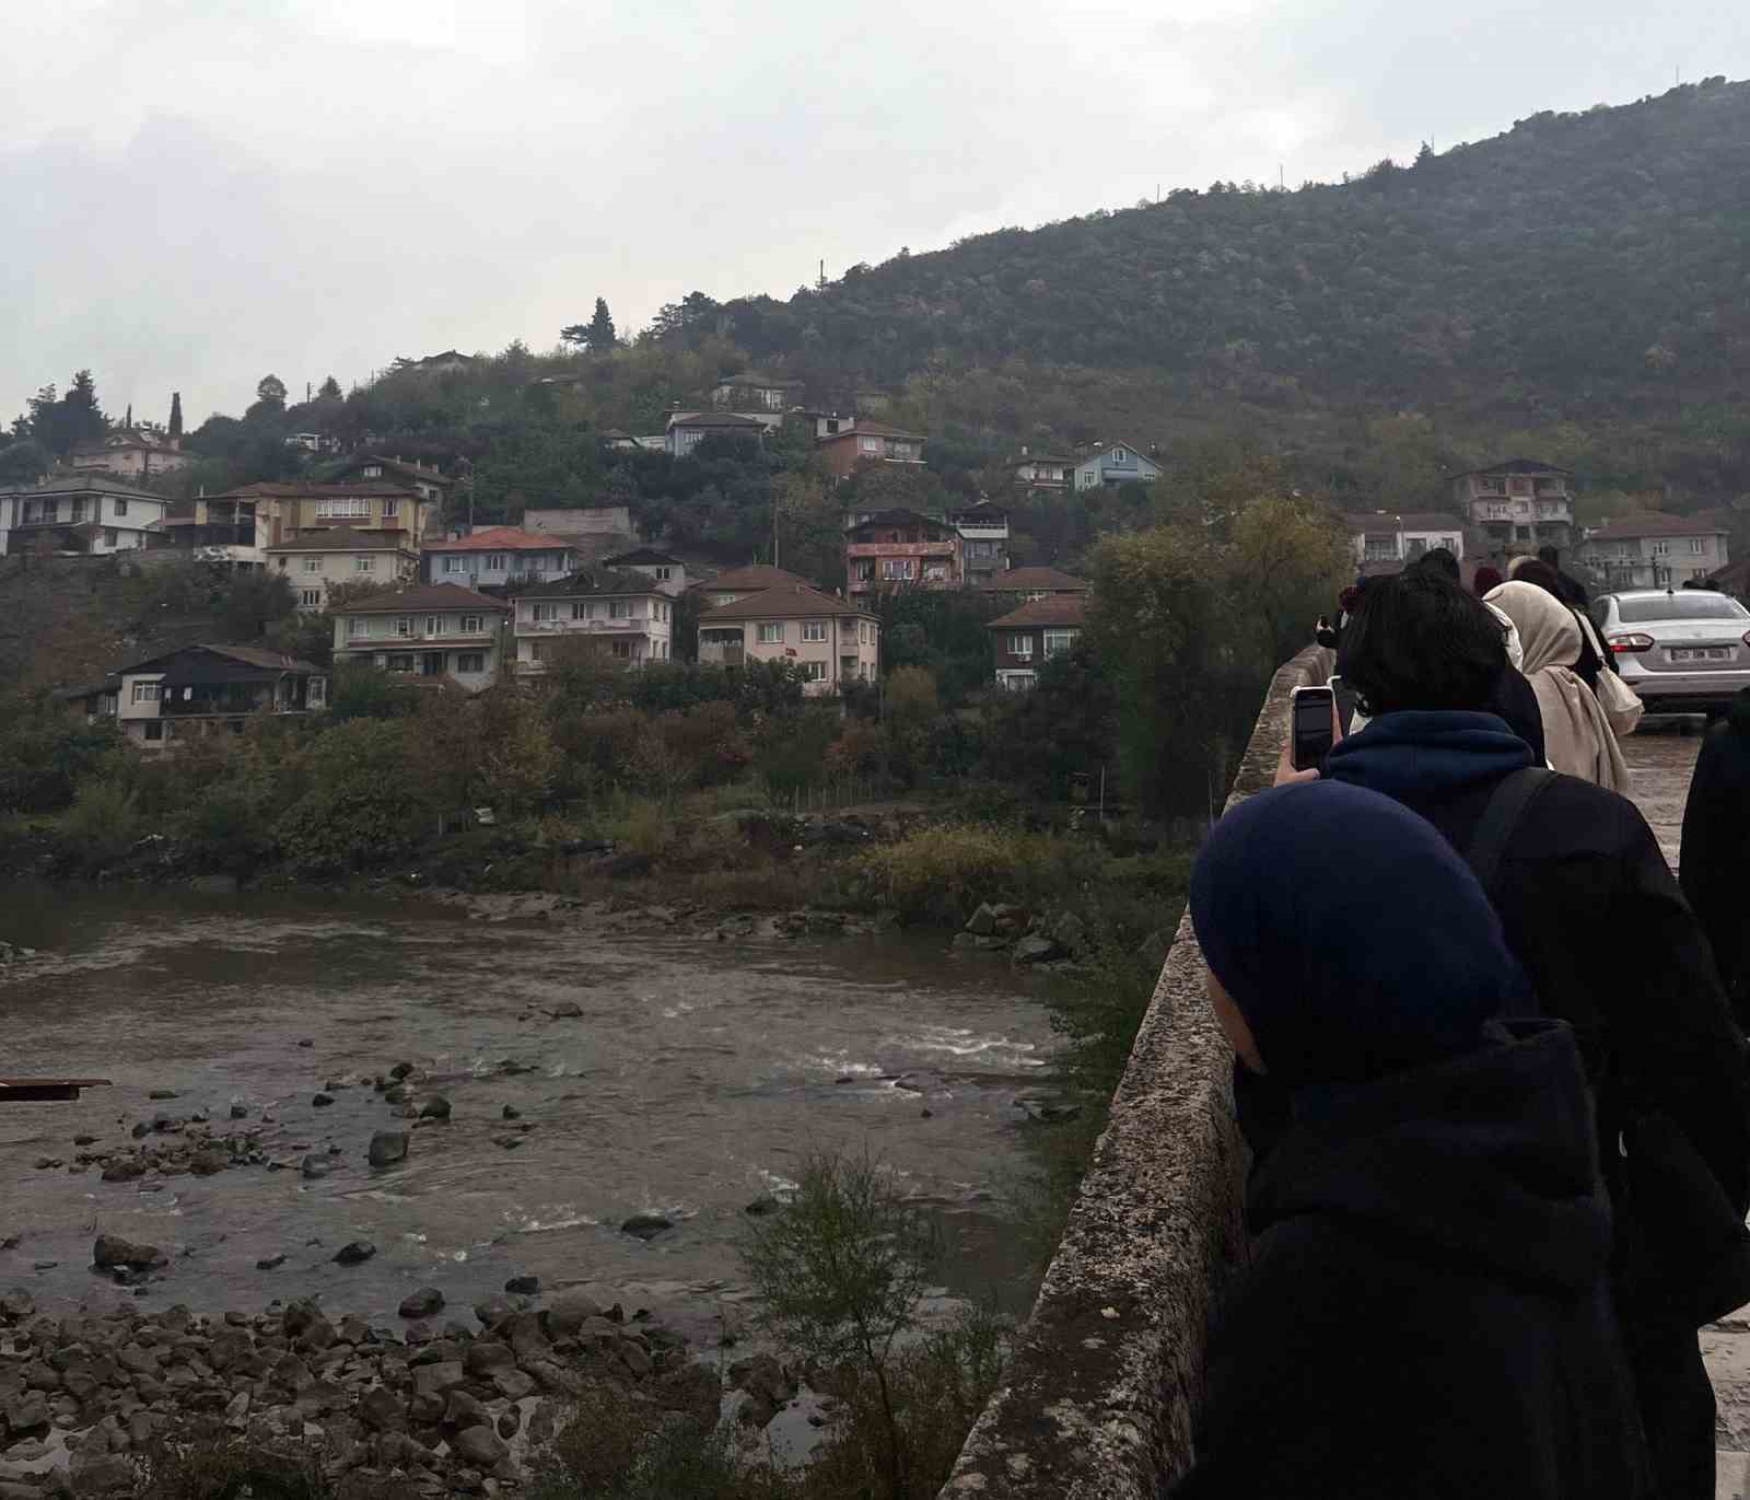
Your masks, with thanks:
[(880, 670), (880, 621), (807, 583), (766, 588), (707, 609), (698, 620), (698, 660), (794, 662), (810, 697), (845, 683), (873, 683)]

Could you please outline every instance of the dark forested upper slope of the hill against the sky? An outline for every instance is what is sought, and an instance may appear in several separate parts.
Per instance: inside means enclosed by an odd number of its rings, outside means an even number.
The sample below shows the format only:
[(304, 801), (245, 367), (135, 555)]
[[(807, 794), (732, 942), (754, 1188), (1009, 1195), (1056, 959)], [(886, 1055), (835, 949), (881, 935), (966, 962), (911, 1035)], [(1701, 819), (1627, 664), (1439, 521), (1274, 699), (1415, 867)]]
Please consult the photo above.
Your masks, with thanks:
[(756, 359), (819, 376), (1024, 359), (1556, 415), (1741, 394), (1746, 271), (1750, 82), (1710, 79), (1337, 186), (1180, 191), (724, 312)]

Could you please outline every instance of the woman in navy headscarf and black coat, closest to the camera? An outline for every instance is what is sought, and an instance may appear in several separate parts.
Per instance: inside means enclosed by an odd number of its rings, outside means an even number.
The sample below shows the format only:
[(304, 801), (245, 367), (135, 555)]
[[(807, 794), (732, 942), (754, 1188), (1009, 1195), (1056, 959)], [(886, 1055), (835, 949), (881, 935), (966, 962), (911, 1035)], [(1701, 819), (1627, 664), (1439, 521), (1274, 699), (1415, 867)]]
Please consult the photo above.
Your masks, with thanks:
[(1190, 912), (1290, 1111), (1178, 1500), (1652, 1495), (1578, 1048), (1475, 875), (1390, 798), (1279, 788), (1214, 826)]

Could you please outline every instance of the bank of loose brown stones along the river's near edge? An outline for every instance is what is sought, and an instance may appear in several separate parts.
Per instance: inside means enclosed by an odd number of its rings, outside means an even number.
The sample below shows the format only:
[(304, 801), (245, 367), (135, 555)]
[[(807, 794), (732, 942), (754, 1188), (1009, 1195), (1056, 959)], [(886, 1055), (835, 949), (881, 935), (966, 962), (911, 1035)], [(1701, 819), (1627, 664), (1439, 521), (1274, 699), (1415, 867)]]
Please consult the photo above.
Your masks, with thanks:
[[(152, 1276), (166, 1264), (159, 1246), (110, 1236), (93, 1246), (98, 1272)], [(513, 1278), (464, 1311), (425, 1286), (387, 1327), (315, 1299), (196, 1316), (122, 1297), (51, 1318), (14, 1288), (0, 1295), (0, 1496), (126, 1491), (154, 1446), (224, 1439), (313, 1461), (343, 1495), (396, 1481), (490, 1495), (522, 1482), (569, 1400), (604, 1379), (704, 1426), (719, 1421), (718, 1372), (648, 1309), (600, 1285), (539, 1293), (534, 1278)], [(770, 1421), (796, 1395), (768, 1355), (728, 1374), (746, 1423)]]

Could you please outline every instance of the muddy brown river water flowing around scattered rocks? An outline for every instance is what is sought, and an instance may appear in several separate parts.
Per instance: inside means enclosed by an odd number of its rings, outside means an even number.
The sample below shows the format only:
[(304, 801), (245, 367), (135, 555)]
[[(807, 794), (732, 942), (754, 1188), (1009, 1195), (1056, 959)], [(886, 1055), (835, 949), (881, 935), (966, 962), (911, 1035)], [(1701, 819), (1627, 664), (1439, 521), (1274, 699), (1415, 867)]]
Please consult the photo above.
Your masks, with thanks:
[[(49, 1309), (117, 1295), (89, 1269), (108, 1230), (172, 1253), (149, 1304), (324, 1292), (388, 1316), (413, 1286), (466, 1307), (532, 1272), (609, 1281), (709, 1328), (742, 1299), (746, 1204), (808, 1148), (864, 1145), (940, 1218), (945, 1285), (1024, 1290), (996, 1209), (1024, 1166), (1013, 1099), (1038, 1085), (1052, 1033), (1026, 980), (950, 959), (940, 938), (719, 943), (364, 900), (28, 889), (0, 891), (0, 936), (46, 954), (0, 970), (0, 1076), (114, 1080), (0, 1111), (0, 1239), (21, 1236), (0, 1286)], [(572, 1003), (581, 1017), (551, 1015)], [(373, 1171), (371, 1132), (406, 1124), (359, 1080), (397, 1061), (432, 1075), (453, 1120)], [(532, 1071), (508, 1076), (506, 1061)], [(924, 1094), (892, 1082), (920, 1069), (934, 1076), (908, 1082)], [(350, 1087), (315, 1108), (329, 1080)], [(128, 1143), (159, 1111), (205, 1108), (233, 1129), (233, 1103), (245, 1124), (273, 1117), (271, 1157), (338, 1146), (334, 1174), (103, 1183), (33, 1166), (72, 1164), (75, 1134)], [(497, 1145), (516, 1129), (506, 1104), (534, 1125), (514, 1152)], [(639, 1211), (677, 1227), (621, 1234)], [(340, 1269), (352, 1239), (380, 1253)], [(256, 1269), (273, 1255), (280, 1269)]]

